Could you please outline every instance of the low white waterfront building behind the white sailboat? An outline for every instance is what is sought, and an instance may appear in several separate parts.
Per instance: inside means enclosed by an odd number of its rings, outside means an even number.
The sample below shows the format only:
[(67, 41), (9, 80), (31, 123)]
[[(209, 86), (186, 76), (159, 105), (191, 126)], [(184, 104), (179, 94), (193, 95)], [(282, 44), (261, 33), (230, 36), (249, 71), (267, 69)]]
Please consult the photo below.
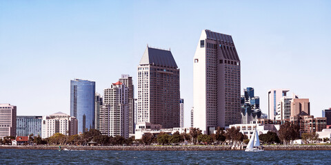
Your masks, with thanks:
[(240, 129), (240, 132), (247, 135), (248, 138), (252, 137), (254, 130), (257, 129), (259, 135), (268, 133), (268, 131), (278, 133), (280, 129), (279, 124), (255, 124), (254, 121), (251, 124), (231, 124), (229, 128)]

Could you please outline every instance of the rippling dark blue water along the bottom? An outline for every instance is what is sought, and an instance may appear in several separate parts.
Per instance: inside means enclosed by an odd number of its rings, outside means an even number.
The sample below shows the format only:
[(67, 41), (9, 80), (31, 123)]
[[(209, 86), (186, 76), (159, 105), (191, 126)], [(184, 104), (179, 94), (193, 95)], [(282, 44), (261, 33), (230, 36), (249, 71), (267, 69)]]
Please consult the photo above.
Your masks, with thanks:
[(0, 149), (0, 164), (331, 164), (331, 151), (57, 151)]

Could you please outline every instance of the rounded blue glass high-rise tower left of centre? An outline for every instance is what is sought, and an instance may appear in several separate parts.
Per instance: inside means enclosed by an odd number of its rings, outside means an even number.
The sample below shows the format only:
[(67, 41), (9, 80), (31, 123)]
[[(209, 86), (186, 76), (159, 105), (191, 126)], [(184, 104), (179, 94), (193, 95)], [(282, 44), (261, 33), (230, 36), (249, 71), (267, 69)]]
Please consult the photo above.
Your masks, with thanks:
[(94, 129), (95, 82), (74, 79), (70, 81), (70, 115), (78, 120), (78, 133)]

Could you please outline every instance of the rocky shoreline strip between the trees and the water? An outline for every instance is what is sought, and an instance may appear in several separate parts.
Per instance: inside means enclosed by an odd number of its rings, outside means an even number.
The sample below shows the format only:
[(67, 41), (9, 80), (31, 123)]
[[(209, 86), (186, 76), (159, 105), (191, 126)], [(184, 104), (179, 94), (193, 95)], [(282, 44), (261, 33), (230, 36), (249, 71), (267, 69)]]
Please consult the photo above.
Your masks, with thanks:
[[(265, 151), (316, 151), (331, 150), (331, 145), (268, 145)], [(0, 146), (0, 149), (37, 149), (59, 150), (57, 146)], [(100, 150), (100, 151), (243, 151), (232, 149), (231, 146), (61, 146), (69, 150)]]

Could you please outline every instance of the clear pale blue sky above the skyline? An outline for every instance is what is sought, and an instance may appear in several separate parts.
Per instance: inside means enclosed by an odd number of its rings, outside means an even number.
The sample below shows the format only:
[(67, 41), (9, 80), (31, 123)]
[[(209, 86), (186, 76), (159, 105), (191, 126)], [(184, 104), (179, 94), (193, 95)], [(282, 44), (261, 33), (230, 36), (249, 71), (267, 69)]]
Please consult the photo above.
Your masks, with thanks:
[[(146, 45), (168, 49), (181, 69), (185, 126), (192, 107), (192, 62), (201, 30), (232, 35), (241, 88), (309, 98), (331, 107), (330, 1), (0, 1), (0, 103), (17, 115), (70, 113), (70, 80), (96, 90), (130, 74)], [(137, 86), (137, 85), (136, 85)], [(137, 94), (136, 94), (137, 96)]]

